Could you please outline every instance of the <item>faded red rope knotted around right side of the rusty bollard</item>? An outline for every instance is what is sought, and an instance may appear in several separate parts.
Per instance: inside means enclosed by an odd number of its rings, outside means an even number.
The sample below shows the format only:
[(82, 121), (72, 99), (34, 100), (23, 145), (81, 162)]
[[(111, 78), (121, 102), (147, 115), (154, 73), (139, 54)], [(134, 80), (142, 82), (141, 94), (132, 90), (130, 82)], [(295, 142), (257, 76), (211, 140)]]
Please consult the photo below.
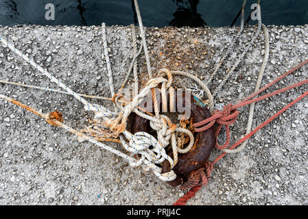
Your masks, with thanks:
[[(252, 99), (252, 98), (254, 98), (254, 96), (257, 96), (259, 93), (261, 93), (264, 90), (270, 88), (270, 86), (274, 85), (279, 80), (281, 80), (284, 77), (286, 77), (287, 75), (293, 73), (295, 70), (298, 70), (298, 68), (304, 66), (307, 63), (308, 63), (308, 59), (305, 60), (304, 62), (301, 62), (300, 64), (298, 64), (294, 68), (288, 70), (286, 73), (284, 73), (283, 75), (281, 75), (280, 77), (278, 77), (277, 79), (272, 81), (271, 83), (268, 83), (267, 86), (264, 86), (263, 88), (261, 88), (257, 92), (254, 92), (253, 94), (248, 96), (243, 101), (240, 101), (236, 105), (228, 104), (228, 105), (224, 106), (224, 110), (222, 110), (222, 111), (215, 110), (214, 113), (213, 113), (213, 116), (211, 116), (210, 118), (207, 118), (206, 120), (202, 120), (199, 123), (193, 124), (194, 127), (200, 127), (202, 125), (205, 125), (202, 128), (195, 129), (195, 131), (205, 131), (206, 129), (211, 128), (215, 123), (217, 123), (218, 124), (217, 131), (216, 131), (216, 136), (217, 136), (220, 133), (220, 130), (222, 129), (222, 126), (225, 125), (226, 126), (226, 142), (225, 142), (224, 145), (221, 146), (216, 141), (216, 147), (217, 147), (217, 149), (220, 149), (220, 150), (226, 149), (228, 147), (229, 143), (230, 143), (230, 130), (229, 130), (229, 126), (235, 122), (235, 120), (236, 120), (236, 118), (237, 118), (237, 116), (239, 114), (239, 112), (237, 111), (237, 108), (243, 107), (244, 105), (249, 105), (251, 103), (255, 103), (257, 101), (261, 101), (261, 100), (266, 99), (266, 98), (268, 98), (270, 96), (274, 96), (276, 94), (280, 94), (281, 92), (285, 92), (287, 90), (291, 90), (292, 88), (296, 88), (298, 86), (302, 86), (302, 85), (308, 83), (308, 79), (306, 79), (304, 81), (300, 81), (298, 83), (294, 83), (292, 86), (287, 86), (287, 87), (285, 87), (283, 89), (276, 90), (276, 91), (271, 92), (269, 94), (265, 94), (265, 95), (260, 96), (260, 97), (258, 97), (256, 99)], [(235, 142), (235, 144), (230, 146), (228, 149), (230, 149), (230, 150), (235, 149), (237, 146), (239, 146), (239, 144), (241, 144), (241, 143), (245, 142), (246, 140), (248, 140), (248, 138), (253, 136), (254, 133), (257, 133), (257, 131), (259, 131), (260, 129), (265, 127), (265, 125), (268, 125), (269, 123), (271, 123), (272, 120), (277, 118), (279, 115), (283, 114), (283, 112), (288, 110), (289, 107), (292, 107), (292, 105), (294, 105), (298, 101), (302, 100), (307, 95), (308, 95), (308, 90), (304, 94), (298, 96), (298, 98), (296, 98), (294, 101), (292, 101), (291, 103), (289, 103), (288, 105), (283, 107), (283, 109), (279, 110), (279, 112), (276, 112), (276, 114), (271, 116), (268, 120), (265, 120), (265, 122), (263, 122), (257, 128), (255, 128), (252, 131), (250, 131), (250, 133), (248, 133), (248, 135), (244, 136), (244, 138), (241, 138), (241, 140)], [(216, 159), (212, 163), (211, 162), (207, 162), (206, 163), (206, 168), (200, 168), (199, 170), (191, 172), (191, 174), (187, 177), (188, 178), (187, 179), (187, 183), (183, 184), (184, 186), (182, 185), (182, 187), (181, 187), (181, 188), (191, 188), (191, 190), (189, 190), (189, 192), (187, 192), (184, 196), (179, 198), (178, 201), (176, 201), (176, 203), (174, 203), (174, 205), (185, 205), (187, 203), (187, 201), (189, 201), (189, 199), (191, 199), (193, 196), (195, 196), (196, 192), (198, 192), (198, 190), (200, 190), (202, 185), (206, 185), (206, 183), (208, 182), (209, 177), (211, 175), (211, 171), (213, 170), (213, 164), (216, 164), (225, 155), (226, 155), (226, 153), (222, 153), (221, 155), (216, 157)], [(204, 174), (204, 170), (206, 170), (206, 174)]]

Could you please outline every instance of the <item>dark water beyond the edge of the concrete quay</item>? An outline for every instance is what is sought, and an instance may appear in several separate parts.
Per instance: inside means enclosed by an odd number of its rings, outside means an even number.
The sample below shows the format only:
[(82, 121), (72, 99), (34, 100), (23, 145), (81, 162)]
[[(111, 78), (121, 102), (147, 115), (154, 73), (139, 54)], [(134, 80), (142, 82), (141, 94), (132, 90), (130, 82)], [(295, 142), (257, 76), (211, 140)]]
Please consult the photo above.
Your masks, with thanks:
[[(230, 26), (243, 0), (139, 0), (146, 27)], [(250, 5), (248, 0), (246, 19)], [(55, 6), (55, 20), (45, 19), (45, 5)], [(308, 0), (261, 0), (266, 25), (308, 23)], [(0, 0), (0, 25), (130, 25), (137, 24), (132, 0)], [(248, 21), (254, 24), (255, 21)], [(239, 25), (239, 19), (235, 25)]]

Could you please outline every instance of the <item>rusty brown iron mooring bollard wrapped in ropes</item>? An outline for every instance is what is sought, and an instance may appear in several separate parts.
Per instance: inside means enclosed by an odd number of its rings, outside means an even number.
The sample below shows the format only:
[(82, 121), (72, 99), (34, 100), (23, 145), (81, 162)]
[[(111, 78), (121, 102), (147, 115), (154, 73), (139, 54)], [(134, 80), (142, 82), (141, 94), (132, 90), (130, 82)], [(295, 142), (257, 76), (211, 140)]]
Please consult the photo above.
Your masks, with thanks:
[[(175, 90), (175, 100), (177, 102), (178, 95), (176, 92), (177, 90)], [(185, 104), (185, 96), (185, 92), (183, 91), (183, 104)], [(169, 103), (169, 94), (167, 94), (167, 100), (167, 102)], [(210, 116), (211, 113), (205, 107), (205, 105), (203, 105), (202, 102), (198, 98), (196, 98), (196, 96), (191, 95), (191, 117), (193, 118), (194, 123), (198, 123), (206, 118), (209, 118)], [(137, 114), (134, 114), (134, 117), (132, 118), (132, 133), (137, 133), (139, 131), (145, 131), (147, 133), (150, 133), (151, 131), (153, 131), (153, 129), (150, 127), (150, 120), (147, 120), (145, 118), (142, 118), (141, 116), (138, 116)], [(206, 131), (198, 132), (195, 138), (195, 144), (193, 145), (191, 150), (188, 153), (178, 155), (178, 164), (176, 164), (176, 166), (174, 166), (173, 168), (174, 172), (176, 173), (176, 179), (174, 179), (173, 181), (167, 181), (167, 183), (172, 186), (177, 186), (187, 181), (187, 176), (189, 175), (189, 173), (191, 173), (193, 170), (198, 170), (200, 167), (204, 166), (207, 159), (209, 159), (209, 156), (214, 146), (215, 132), (213, 127), (207, 129)], [(173, 157), (172, 150), (167, 151), (167, 154), (170, 157)], [(169, 162), (165, 160), (162, 164), (162, 168), (162, 173), (169, 172)]]

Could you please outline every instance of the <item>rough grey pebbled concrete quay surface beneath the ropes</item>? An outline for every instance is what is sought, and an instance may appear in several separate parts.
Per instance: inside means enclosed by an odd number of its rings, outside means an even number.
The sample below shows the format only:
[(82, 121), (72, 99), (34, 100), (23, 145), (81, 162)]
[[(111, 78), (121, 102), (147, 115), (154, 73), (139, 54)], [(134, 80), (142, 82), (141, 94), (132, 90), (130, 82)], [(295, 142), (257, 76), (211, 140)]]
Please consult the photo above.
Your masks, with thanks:
[[(261, 86), (307, 59), (308, 25), (269, 26), (270, 59)], [(211, 73), (237, 34), (237, 27), (148, 28), (152, 68), (185, 70), (201, 79)], [(242, 41), (228, 57), (210, 88), (213, 90), (252, 38)], [(0, 27), (0, 35), (47, 68), (75, 92), (110, 96), (100, 27)], [(121, 86), (132, 59), (130, 27), (108, 27), (110, 61), (116, 88)], [(139, 38), (140, 40), (140, 38)], [(216, 107), (237, 101), (254, 90), (264, 55), (263, 31), (218, 94)], [(139, 58), (140, 80), (146, 81), (144, 54)], [(308, 66), (289, 75), (268, 92), (307, 79)], [(0, 79), (56, 88), (47, 77), (0, 46)], [(132, 80), (132, 78), (131, 78)], [(176, 77), (178, 86), (191, 81)], [(256, 105), (253, 127), (305, 92), (301, 86)], [(64, 123), (82, 129), (91, 112), (72, 96), (0, 84), (0, 93), (42, 110), (59, 110)], [(107, 101), (93, 100), (111, 107)], [(232, 141), (245, 133), (248, 106), (232, 129)], [(78, 142), (75, 136), (45, 120), (0, 100), (1, 205), (170, 205), (186, 191), (171, 188), (152, 172), (131, 168), (125, 160)], [(188, 205), (307, 205), (308, 99), (296, 103), (250, 138), (240, 153), (227, 155), (214, 166), (209, 184)], [(108, 145), (121, 149), (119, 144)], [(219, 154), (214, 151), (213, 156)]]

